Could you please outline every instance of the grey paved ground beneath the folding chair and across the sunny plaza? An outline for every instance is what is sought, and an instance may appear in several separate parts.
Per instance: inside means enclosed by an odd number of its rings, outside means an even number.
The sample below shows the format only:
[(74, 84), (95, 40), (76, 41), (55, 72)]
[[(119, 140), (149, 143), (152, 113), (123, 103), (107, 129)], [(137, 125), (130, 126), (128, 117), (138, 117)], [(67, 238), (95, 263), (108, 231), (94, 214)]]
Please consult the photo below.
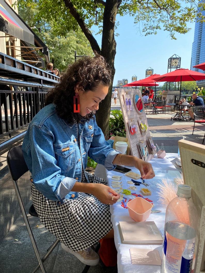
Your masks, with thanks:
[[(112, 109), (120, 109), (119, 100), (117, 100), (116, 106), (113, 106), (113, 104), (114, 101), (112, 102)], [(158, 146), (161, 146), (161, 143), (164, 143), (165, 151), (167, 153), (177, 153), (177, 141), (180, 140), (182, 136), (186, 136), (186, 140), (195, 143), (202, 143), (204, 136), (203, 130), (205, 129), (204, 124), (197, 124), (194, 130), (194, 135), (192, 135), (194, 125), (193, 121), (171, 121), (172, 116), (173, 114), (171, 113), (157, 115), (147, 114), (150, 134), (153, 137), (154, 144), (157, 143)], [(9, 174), (5, 174), (3, 183), (0, 183), (0, 188), (1, 192), (7, 192), (7, 198), (2, 199), (1, 197), (1, 203), (3, 200), (5, 202), (3, 205), (7, 206), (6, 202), (9, 202), (9, 196), (12, 199), (16, 198)], [(31, 201), (29, 201), (26, 206), (27, 211), (30, 204)], [(7, 216), (11, 218), (12, 221), (13, 214), (10, 213), (10, 215)], [(39, 219), (36, 217), (31, 218), (31, 227), (34, 231), (34, 236), (41, 254), (45, 254), (48, 246), (55, 240), (55, 237), (46, 231)], [(9, 233), (0, 245), (0, 272), (32, 272), (36, 263), (37, 259), (25, 228), (23, 218), (22, 216), (19, 216), (17, 220), (11, 224)], [(54, 252), (48, 260), (46, 260), (45, 266), (48, 273), (79, 273), (82, 272), (84, 268), (84, 265), (79, 262), (76, 257), (66, 253), (61, 248), (61, 245), (58, 245), (55, 248)], [(40, 269), (37, 272), (41, 272)], [(104, 268), (99, 263), (97, 266), (90, 267), (88, 272), (116, 273), (117, 268)]]

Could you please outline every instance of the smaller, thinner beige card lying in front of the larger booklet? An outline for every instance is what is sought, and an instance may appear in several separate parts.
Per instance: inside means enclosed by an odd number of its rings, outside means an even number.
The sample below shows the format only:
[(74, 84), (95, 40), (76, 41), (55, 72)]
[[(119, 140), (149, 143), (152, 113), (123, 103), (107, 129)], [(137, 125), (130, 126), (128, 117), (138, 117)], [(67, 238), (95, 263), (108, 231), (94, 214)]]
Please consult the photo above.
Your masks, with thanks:
[(133, 265), (161, 265), (159, 251), (156, 249), (130, 248)]

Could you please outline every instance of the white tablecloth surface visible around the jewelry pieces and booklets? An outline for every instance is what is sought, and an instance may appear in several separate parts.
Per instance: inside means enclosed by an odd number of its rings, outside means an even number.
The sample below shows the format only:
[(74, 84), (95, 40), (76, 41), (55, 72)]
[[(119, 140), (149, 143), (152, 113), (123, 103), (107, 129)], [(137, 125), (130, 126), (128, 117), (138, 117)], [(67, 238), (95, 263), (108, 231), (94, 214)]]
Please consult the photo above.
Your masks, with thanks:
[[(150, 163), (153, 166), (155, 177), (150, 180), (145, 180), (148, 184), (150, 184), (152, 181), (160, 183), (162, 179), (170, 179), (171, 181), (174, 180), (174, 177), (180, 177), (180, 172), (176, 170), (174, 165), (170, 162), (172, 159), (176, 158), (177, 154), (174, 153), (168, 153), (166, 154), (166, 157), (163, 159), (157, 158), (157, 155), (150, 161)], [(128, 167), (128, 166), (126, 166)], [(139, 173), (139, 171), (133, 167), (131, 168), (132, 171)], [(116, 171), (107, 171), (107, 181), (108, 185), (111, 186), (112, 182), (112, 176), (113, 175), (119, 175), (122, 177), (123, 182), (123, 189), (127, 189), (129, 187), (129, 184), (127, 181), (130, 181), (131, 178), (125, 176), (124, 174), (121, 174)], [(140, 180), (140, 179), (139, 179)], [(140, 188), (145, 186), (136, 186), (136, 194), (140, 194)], [(134, 191), (131, 191), (134, 192)], [(151, 213), (147, 221), (155, 221), (157, 227), (159, 228), (160, 232), (164, 233), (164, 224), (165, 224), (165, 208), (157, 201), (159, 196), (157, 195), (157, 189), (155, 192), (152, 192), (148, 198), (153, 201), (154, 204), (154, 210), (162, 210), (162, 212), (159, 213)], [(133, 195), (125, 195), (124, 197), (127, 198), (127, 201), (129, 199), (135, 198)], [(119, 235), (119, 229), (118, 229), (118, 223), (119, 221), (134, 221), (130, 216), (128, 209), (125, 209), (121, 206), (121, 202), (117, 202), (116, 204), (110, 206), (110, 212), (112, 214), (111, 220), (114, 228), (115, 233), (115, 246), (118, 251), (118, 273), (159, 273), (160, 272), (160, 266), (142, 266), (142, 265), (132, 265), (131, 264), (131, 257), (130, 257), (130, 251), (129, 249), (131, 247), (136, 248), (150, 248), (150, 249), (157, 249), (162, 254), (162, 245), (128, 245), (128, 244), (122, 244), (120, 235)]]

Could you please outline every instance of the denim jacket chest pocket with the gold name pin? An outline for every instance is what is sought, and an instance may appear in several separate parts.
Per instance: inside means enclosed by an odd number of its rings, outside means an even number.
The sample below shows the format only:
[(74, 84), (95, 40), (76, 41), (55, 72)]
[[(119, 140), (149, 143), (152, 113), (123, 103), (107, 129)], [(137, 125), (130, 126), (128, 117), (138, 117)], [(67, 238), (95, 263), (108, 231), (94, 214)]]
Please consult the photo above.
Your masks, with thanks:
[(75, 159), (75, 144), (68, 143), (67, 145), (54, 145), (55, 158), (57, 165), (61, 168), (62, 174), (71, 170), (74, 167)]

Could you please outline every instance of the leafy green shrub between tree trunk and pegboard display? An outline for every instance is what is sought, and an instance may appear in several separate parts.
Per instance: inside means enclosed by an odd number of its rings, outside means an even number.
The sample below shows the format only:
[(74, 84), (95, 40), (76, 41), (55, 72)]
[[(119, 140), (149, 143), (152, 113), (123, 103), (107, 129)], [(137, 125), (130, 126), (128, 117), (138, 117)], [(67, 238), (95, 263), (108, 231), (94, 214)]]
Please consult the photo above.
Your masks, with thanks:
[(110, 111), (111, 117), (109, 120), (109, 136), (126, 137), (125, 124), (123, 115), (120, 110)]

